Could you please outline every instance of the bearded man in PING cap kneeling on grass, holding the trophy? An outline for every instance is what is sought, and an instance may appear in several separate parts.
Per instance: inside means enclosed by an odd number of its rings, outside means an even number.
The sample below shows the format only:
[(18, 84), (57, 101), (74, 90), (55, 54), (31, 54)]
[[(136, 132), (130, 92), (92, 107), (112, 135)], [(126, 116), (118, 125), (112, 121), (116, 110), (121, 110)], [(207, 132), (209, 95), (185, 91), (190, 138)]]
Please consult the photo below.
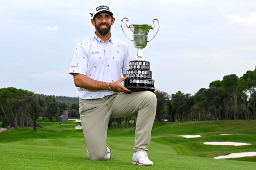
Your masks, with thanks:
[(91, 23), (95, 32), (77, 44), (69, 70), (77, 87), (87, 155), (91, 160), (111, 159), (111, 149), (106, 145), (109, 119), (138, 113), (131, 163), (153, 166), (146, 148), (156, 114), (157, 90), (131, 92), (122, 85), (130, 53), (125, 42), (112, 36), (114, 22), (110, 6), (94, 7)]

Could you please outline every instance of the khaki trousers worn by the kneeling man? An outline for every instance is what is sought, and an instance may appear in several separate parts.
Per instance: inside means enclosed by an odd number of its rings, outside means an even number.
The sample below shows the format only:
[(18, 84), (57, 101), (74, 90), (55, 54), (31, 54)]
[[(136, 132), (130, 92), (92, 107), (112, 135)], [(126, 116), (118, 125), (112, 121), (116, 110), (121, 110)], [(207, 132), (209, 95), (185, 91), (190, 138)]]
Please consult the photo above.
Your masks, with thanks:
[(79, 113), (88, 157), (91, 160), (102, 160), (106, 154), (110, 118), (129, 117), (137, 112), (134, 151), (147, 151), (156, 115), (156, 101), (156, 95), (149, 91), (117, 93), (106, 100), (79, 98)]

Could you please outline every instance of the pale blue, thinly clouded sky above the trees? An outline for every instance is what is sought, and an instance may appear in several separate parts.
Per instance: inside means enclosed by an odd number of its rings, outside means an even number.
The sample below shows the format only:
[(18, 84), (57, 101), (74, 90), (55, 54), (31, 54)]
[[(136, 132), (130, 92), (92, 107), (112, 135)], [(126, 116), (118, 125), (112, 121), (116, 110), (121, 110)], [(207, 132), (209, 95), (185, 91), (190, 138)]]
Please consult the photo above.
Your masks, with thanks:
[(255, 69), (255, 0), (0, 0), (0, 88), (76, 97), (69, 67), (76, 44), (93, 34), (89, 13), (101, 3), (112, 7), (111, 34), (128, 44), (131, 58), (137, 49), (122, 18), (159, 20), (143, 53), (156, 88), (169, 95), (194, 95), (225, 75)]

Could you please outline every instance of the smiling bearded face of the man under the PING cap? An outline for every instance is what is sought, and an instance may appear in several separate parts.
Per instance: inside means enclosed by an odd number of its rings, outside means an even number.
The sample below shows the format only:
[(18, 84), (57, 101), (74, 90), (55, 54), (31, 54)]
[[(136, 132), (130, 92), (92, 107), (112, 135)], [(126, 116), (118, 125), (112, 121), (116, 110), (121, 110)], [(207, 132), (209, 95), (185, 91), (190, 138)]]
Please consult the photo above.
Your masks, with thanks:
[(105, 35), (109, 33), (114, 21), (115, 18), (112, 19), (109, 13), (100, 13), (95, 17), (95, 21), (92, 21), (92, 24), (100, 34)]

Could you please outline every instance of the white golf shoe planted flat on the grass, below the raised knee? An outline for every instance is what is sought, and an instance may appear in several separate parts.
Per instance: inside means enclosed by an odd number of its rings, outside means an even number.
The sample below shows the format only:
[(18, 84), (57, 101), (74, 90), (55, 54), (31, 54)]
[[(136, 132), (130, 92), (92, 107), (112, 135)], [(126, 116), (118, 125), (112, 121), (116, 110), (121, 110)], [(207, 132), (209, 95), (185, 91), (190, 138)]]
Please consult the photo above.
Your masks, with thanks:
[(153, 166), (153, 162), (149, 160), (145, 150), (138, 150), (137, 152), (134, 152), (131, 163), (144, 166)]

